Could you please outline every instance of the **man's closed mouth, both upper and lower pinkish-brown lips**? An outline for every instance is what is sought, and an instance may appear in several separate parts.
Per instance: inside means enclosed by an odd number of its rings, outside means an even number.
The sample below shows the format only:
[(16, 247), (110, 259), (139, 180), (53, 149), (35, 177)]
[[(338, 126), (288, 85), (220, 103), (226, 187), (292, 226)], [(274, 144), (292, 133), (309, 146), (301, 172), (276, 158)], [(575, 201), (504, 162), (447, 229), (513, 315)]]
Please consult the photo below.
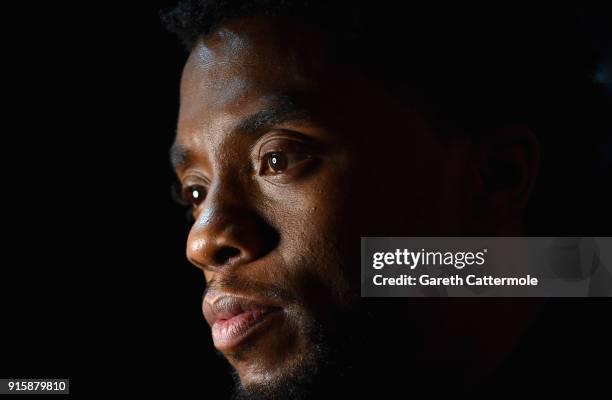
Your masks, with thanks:
[(204, 317), (212, 328), (214, 345), (220, 351), (237, 347), (282, 310), (265, 300), (228, 293), (209, 294), (203, 302)]

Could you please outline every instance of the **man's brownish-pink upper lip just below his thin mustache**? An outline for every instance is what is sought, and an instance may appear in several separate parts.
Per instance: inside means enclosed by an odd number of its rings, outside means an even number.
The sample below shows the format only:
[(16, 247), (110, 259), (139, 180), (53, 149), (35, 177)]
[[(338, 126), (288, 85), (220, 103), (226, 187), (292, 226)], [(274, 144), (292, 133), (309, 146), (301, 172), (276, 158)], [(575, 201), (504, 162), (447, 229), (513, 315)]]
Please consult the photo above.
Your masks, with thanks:
[(209, 291), (204, 297), (204, 318), (210, 326), (217, 320), (225, 320), (251, 310), (280, 308), (267, 299), (257, 299), (239, 294)]

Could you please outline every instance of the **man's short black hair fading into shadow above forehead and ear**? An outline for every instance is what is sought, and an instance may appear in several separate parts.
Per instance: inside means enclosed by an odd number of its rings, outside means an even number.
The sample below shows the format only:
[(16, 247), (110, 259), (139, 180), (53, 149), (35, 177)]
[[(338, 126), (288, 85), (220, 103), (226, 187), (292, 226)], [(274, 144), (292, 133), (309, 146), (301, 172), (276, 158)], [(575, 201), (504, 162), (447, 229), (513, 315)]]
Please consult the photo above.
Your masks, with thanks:
[[(567, 175), (586, 186), (604, 185), (610, 173), (612, 24), (592, 18), (597, 13), (532, 4), (184, 0), (162, 18), (188, 50), (230, 19), (287, 17), (320, 27), (336, 39), (339, 61), (414, 103), (441, 133), (530, 126), (543, 148), (540, 181), (548, 172), (546, 185), (558, 185), (550, 193), (559, 196)], [(587, 193), (575, 187), (573, 196)], [(577, 233), (576, 224), (566, 226)]]

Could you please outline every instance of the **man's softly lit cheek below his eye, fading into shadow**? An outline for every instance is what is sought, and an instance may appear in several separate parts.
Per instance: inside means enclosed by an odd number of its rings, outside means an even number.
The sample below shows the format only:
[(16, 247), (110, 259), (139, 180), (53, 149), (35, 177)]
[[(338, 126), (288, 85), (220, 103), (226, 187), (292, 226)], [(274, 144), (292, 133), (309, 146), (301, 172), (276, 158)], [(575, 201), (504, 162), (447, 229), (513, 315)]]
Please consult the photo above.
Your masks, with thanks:
[[(342, 168), (329, 168), (300, 185), (275, 188), (278, 251), (293, 290), (317, 314), (344, 304), (358, 289), (359, 234), (350, 228), (349, 188)], [(353, 237), (349, 233), (356, 234)]]

